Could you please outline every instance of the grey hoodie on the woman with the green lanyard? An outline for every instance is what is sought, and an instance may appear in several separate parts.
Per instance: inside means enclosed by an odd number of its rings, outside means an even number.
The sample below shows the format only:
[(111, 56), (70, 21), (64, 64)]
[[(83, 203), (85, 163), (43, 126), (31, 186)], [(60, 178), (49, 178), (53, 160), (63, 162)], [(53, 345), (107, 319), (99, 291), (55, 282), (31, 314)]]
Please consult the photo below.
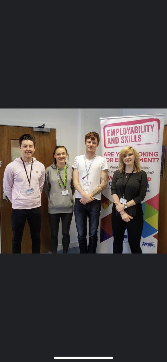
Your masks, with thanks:
[[(66, 190), (68, 190), (68, 195), (62, 195), (61, 191), (64, 190), (63, 186), (60, 186), (57, 179), (57, 169), (55, 163), (47, 167), (46, 176), (44, 182), (44, 190), (48, 197), (48, 213), (49, 214), (60, 214), (66, 212), (73, 212), (74, 210), (74, 200), (73, 194), (75, 188), (73, 186), (73, 169), (66, 162), (67, 169), (67, 185)], [(60, 176), (64, 181), (64, 168), (59, 169)]]

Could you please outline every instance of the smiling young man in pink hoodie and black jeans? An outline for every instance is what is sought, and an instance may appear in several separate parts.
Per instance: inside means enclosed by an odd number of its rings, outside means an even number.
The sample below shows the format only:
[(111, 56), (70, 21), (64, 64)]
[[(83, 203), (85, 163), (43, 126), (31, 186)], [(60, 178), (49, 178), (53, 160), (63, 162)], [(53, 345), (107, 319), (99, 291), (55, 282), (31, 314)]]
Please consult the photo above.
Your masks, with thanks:
[(29, 223), (32, 253), (40, 253), (41, 193), (45, 167), (33, 157), (35, 138), (24, 134), (19, 139), (22, 157), (10, 162), (4, 172), (4, 193), (12, 202), (12, 253), (21, 253), (26, 219)]

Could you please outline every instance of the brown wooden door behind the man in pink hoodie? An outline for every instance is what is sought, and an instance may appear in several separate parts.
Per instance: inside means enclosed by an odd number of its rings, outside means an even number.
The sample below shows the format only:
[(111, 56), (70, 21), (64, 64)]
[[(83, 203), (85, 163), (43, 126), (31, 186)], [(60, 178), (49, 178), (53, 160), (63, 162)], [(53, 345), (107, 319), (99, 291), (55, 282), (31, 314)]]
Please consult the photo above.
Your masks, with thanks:
[[(47, 168), (53, 163), (53, 150), (56, 145), (56, 130), (50, 132), (35, 132), (29, 127), (0, 126), (0, 218), (1, 218), (1, 252), (12, 253), (12, 226), (11, 211), (12, 204), (3, 199), (3, 176), (5, 167), (12, 161), (13, 152), (19, 152), (16, 143), (22, 134), (29, 133), (36, 138), (36, 149), (33, 157), (42, 162)], [(12, 146), (11, 146), (12, 145)], [(19, 145), (19, 144), (18, 144)], [(14, 146), (14, 147), (13, 147)], [(12, 147), (12, 148), (11, 148)], [(12, 150), (12, 151), (11, 151)], [(13, 151), (14, 150), (14, 151)], [(16, 156), (18, 157), (18, 155)], [(14, 158), (16, 158), (14, 157)], [(41, 228), (41, 253), (51, 250), (50, 246), (50, 226), (48, 221), (47, 196), (42, 192), (42, 228)], [(35, 222), (35, 220), (34, 220)], [(23, 239), (21, 243), (21, 253), (31, 253), (31, 236), (29, 225), (26, 221)]]

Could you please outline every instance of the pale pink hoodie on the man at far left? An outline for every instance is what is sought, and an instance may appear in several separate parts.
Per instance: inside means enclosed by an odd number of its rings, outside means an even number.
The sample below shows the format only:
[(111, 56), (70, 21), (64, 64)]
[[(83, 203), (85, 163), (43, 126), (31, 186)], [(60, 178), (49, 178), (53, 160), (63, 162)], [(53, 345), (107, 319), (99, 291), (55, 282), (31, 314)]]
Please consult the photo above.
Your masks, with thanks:
[[(31, 162), (25, 162), (27, 175), (30, 178)], [(45, 167), (33, 157), (30, 187), (34, 193), (27, 194), (29, 182), (20, 157), (10, 162), (4, 172), (4, 193), (12, 202), (13, 209), (34, 209), (41, 206), (41, 193), (45, 180)]]

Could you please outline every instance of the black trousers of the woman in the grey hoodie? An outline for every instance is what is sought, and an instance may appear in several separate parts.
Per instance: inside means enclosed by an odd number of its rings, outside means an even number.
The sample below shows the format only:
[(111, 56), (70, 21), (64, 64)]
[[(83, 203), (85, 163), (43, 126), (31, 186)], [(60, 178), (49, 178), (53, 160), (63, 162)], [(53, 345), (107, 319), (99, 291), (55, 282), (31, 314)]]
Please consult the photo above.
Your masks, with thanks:
[(61, 230), (63, 234), (62, 245), (63, 253), (68, 253), (69, 243), (70, 243), (70, 224), (73, 217), (73, 212), (66, 212), (62, 214), (48, 214), (50, 227), (51, 227), (51, 248), (52, 253), (57, 253), (58, 246), (58, 232), (59, 232), (59, 223), (61, 218)]

